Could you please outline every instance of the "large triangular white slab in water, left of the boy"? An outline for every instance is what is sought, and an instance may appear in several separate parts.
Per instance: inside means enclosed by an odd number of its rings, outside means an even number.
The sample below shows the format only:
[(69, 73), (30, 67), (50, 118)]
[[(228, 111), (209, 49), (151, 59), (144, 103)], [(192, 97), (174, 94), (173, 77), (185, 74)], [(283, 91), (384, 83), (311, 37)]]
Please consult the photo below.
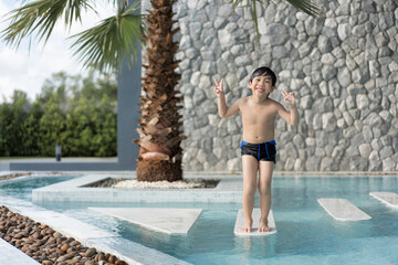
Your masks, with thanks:
[(187, 234), (202, 212), (201, 209), (166, 208), (88, 208), (148, 230), (167, 234)]

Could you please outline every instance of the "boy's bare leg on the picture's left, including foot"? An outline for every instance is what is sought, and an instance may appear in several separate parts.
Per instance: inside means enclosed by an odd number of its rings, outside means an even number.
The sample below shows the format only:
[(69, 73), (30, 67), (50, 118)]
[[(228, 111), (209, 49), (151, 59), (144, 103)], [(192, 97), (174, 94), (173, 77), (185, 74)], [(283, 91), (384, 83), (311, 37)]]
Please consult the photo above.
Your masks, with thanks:
[(256, 190), (256, 173), (259, 169), (259, 161), (252, 157), (242, 156), (243, 170), (243, 198), (242, 206), (244, 212), (244, 226), (240, 229), (241, 232), (251, 232), (253, 225), (252, 212), (254, 208), (254, 194)]

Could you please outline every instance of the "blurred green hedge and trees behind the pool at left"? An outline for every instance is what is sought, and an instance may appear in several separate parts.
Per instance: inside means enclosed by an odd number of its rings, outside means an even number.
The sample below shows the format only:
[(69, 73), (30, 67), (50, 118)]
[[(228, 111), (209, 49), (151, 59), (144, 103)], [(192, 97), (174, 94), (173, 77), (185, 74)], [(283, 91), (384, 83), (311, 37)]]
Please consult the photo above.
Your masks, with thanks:
[(112, 157), (116, 150), (117, 85), (112, 76), (53, 74), (31, 103), (14, 91), (0, 105), (0, 156)]

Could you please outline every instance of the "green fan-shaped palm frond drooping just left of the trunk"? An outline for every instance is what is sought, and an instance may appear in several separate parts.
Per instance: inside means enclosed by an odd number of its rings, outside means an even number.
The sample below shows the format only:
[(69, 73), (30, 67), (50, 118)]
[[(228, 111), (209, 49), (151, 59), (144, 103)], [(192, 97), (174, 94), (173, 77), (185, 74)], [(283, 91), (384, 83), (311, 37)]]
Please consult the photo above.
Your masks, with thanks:
[(143, 45), (143, 15), (135, 14), (139, 2), (128, 9), (103, 20), (100, 24), (71, 38), (77, 38), (72, 44), (74, 54), (86, 68), (109, 72), (123, 66), (126, 60), (128, 67), (137, 59), (137, 47)]

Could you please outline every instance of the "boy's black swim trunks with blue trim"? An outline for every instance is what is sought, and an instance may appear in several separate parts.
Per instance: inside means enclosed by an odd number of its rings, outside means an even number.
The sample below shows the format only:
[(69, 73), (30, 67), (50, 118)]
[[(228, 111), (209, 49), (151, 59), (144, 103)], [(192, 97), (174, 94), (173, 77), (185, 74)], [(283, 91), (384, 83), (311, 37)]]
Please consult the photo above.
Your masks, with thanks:
[(242, 141), (240, 145), (241, 155), (249, 155), (259, 161), (271, 161), (276, 163), (276, 142), (265, 141), (262, 144), (250, 144), (247, 141)]

